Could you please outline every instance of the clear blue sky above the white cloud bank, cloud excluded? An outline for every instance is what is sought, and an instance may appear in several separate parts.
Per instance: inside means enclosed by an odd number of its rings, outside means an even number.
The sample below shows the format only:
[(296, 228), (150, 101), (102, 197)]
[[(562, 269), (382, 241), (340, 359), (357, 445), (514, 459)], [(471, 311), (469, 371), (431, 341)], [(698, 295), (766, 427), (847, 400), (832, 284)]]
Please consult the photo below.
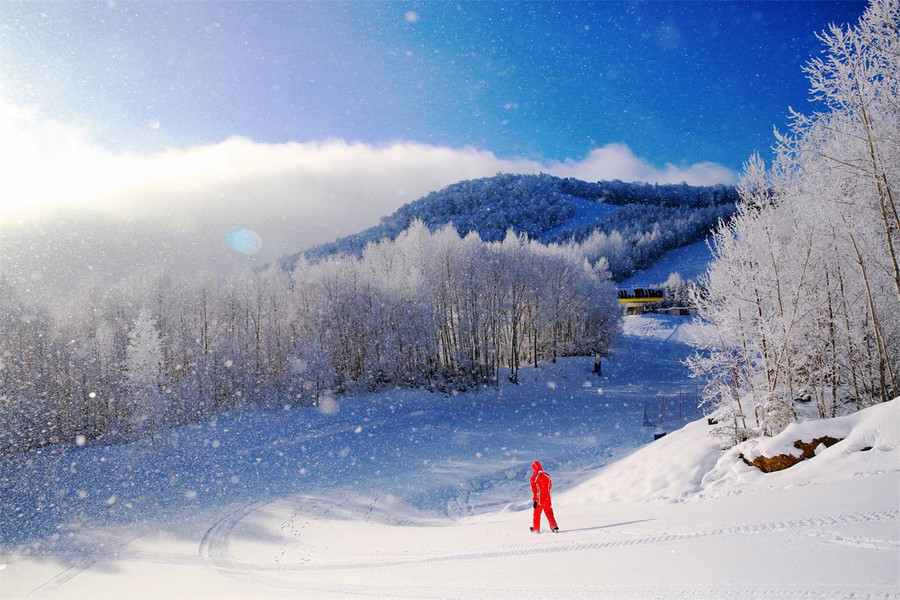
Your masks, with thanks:
[(0, 4), (0, 96), (110, 148), (340, 138), (739, 169), (860, 2)]

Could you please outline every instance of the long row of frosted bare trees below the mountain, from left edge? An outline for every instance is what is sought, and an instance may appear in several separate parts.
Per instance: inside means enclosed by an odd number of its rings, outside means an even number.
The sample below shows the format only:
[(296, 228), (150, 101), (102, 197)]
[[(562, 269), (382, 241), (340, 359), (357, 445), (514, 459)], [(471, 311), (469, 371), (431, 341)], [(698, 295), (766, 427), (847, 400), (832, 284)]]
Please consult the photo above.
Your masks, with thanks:
[(465, 389), (604, 353), (614, 288), (576, 250), (416, 222), (361, 257), (223, 280), (135, 273), (60, 306), (0, 279), (0, 451), (388, 385)]

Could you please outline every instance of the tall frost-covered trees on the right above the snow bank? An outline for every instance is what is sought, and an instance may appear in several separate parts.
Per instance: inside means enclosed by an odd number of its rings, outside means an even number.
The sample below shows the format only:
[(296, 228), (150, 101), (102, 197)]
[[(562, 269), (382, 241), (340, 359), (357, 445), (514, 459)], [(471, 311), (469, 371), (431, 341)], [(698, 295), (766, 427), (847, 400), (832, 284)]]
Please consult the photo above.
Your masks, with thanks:
[(900, 4), (820, 35), (820, 110), (746, 164), (696, 302), (717, 335), (693, 361), (740, 441), (900, 393)]

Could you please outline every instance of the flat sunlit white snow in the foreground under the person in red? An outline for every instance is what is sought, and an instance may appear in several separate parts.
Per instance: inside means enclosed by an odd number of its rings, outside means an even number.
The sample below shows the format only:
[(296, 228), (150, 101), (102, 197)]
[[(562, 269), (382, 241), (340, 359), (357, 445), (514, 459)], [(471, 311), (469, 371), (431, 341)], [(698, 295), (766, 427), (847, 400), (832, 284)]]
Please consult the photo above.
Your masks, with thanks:
[[(811, 487), (819, 488), (814, 495), (847, 497), (854, 486), (876, 490), (891, 481), (895, 473)], [(540, 536), (527, 532), (527, 510), (450, 526), (395, 526), (351, 518), (364, 516), (371, 498), (329, 503), (298, 497), (229, 513), (210, 527), (193, 556), (125, 547), (111, 562), (171, 581), (168, 587), (156, 584), (159, 596), (184, 593), (176, 586), (187, 585), (187, 595), (228, 597), (499, 599), (531, 590), (574, 598), (896, 598), (900, 510), (833, 514), (826, 506), (810, 517), (749, 520), (753, 507), (769, 514), (774, 505), (799, 506), (810, 491), (800, 486), (772, 497), (741, 494), (603, 510), (563, 503), (557, 512), (569, 528)], [(890, 502), (870, 504), (885, 500)], [(721, 522), (740, 515), (748, 520)], [(730, 563), (722, 561), (728, 551), (736, 551)], [(711, 557), (719, 560), (713, 570)], [(867, 581), (852, 581), (860, 559)], [(791, 566), (782, 568), (786, 562)], [(819, 563), (844, 568), (811, 569)], [(716, 571), (724, 577), (713, 576)], [(181, 581), (179, 572), (188, 579)], [(109, 577), (91, 569), (65, 591), (38, 595), (145, 595), (128, 593)], [(529, 578), (529, 585), (521, 583)]]

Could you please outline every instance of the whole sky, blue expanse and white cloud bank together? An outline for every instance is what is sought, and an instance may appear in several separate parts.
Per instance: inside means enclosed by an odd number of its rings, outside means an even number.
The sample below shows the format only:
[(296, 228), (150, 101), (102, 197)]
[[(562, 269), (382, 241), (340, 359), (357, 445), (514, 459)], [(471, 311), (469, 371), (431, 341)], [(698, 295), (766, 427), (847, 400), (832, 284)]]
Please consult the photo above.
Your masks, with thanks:
[(735, 183), (863, 9), (0, 0), (0, 273), (227, 272), (498, 172)]

